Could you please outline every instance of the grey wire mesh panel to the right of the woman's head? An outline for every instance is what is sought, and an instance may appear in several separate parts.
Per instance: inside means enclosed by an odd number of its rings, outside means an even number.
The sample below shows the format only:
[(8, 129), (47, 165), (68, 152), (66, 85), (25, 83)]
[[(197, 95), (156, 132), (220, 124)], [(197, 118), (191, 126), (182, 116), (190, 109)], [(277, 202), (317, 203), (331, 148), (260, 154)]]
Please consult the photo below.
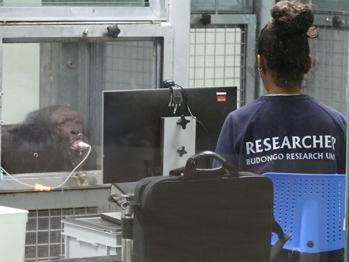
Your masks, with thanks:
[(346, 115), (348, 29), (321, 26), (317, 30), (319, 39), (311, 43), (316, 66), (306, 92)]

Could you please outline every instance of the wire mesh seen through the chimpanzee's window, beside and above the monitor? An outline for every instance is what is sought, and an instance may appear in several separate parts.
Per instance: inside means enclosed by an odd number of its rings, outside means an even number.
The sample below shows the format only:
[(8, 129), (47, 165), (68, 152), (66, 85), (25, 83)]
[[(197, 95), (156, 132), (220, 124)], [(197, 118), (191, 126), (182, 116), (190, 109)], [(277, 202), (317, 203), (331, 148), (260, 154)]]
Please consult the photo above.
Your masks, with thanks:
[[(102, 91), (152, 89), (154, 81), (156, 44), (154, 40), (98, 43), (91, 52), (91, 79), (89, 95), (92, 99), (89, 128), (91, 140), (101, 144)], [(95, 70), (94, 68), (100, 68)], [(100, 163), (100, 161), (99, 161)]]

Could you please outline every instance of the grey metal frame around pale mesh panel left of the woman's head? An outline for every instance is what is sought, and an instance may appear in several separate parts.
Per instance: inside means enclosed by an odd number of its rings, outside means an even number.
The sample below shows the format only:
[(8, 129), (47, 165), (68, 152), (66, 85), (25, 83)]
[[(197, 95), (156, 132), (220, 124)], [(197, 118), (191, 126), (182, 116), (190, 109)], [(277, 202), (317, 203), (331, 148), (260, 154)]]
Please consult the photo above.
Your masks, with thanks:
[[(199, 20), (202, 15), (191, 15), (191, 24), (199, 24)], [(250, 103), (254, 100), (255, 79), (248, 73), (248, 66), (253, 65), (255, 62), (255, 48), (256, 41), (256, 15), (228, 15), (228, 14), (215, 14), (211, 15), (211, 24), (247, 24), (247, 41), (246, 41), (246, 82), (245, 82), (245, 103)]]

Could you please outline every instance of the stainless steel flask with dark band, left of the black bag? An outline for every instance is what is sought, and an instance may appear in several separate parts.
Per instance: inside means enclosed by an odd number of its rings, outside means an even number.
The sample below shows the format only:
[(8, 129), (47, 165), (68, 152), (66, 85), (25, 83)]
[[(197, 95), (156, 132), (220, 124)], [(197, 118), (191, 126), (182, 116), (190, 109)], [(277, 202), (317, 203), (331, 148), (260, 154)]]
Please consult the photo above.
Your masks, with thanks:
[(121, 204), (122, 262), (132, 262), (133, 251), (133, 201)]

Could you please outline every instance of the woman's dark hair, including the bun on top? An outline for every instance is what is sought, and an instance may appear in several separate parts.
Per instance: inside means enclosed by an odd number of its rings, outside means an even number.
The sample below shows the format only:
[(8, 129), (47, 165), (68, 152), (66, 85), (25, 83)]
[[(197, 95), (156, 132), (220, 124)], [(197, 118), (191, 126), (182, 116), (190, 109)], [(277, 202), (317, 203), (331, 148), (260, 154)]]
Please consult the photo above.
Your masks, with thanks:
[(258, 54), (278, 87), (294, 87), (310, 65), (308, 38), (318, 37), (312, 26), (314, 14), (304, 2), (291, 1), (277, 2), (270, 14), (258, 39)]

